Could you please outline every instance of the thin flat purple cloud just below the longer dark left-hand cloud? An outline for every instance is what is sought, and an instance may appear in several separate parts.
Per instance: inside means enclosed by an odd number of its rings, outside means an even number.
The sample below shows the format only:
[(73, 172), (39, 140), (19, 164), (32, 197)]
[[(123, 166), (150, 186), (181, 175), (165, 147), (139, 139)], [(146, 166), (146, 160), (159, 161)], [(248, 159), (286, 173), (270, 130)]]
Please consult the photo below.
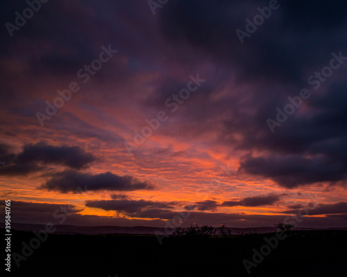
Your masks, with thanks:
[[(140, 200), (94, 200), (87, 201), (85, 206), (92, 208), (101, 208), (105, 211), (118, 211), (121, 213), (133, 214), (133, 213), (141, 213), (144, 209), (148, 208), (174, 208), (175, 202), (154, 202), (147, 201), (144, 199)], [(157, 210), (159, 211), (159, 210)], [(144, 217), (144, 216), (141, 216)]]

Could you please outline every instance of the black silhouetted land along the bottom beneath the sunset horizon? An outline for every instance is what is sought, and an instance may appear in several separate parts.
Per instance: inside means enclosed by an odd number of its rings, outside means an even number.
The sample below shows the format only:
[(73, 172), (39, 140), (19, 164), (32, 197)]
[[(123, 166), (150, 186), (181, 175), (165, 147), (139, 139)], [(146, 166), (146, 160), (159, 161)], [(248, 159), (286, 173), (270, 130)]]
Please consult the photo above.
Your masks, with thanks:
[[(2, 229), (3, 231), (3, 229)], [(344, 276), (347, 231), (297, 231), (278, 243), (247, 274), (253, 249), (273, 233), (229, 238), (165, 238), (155, 235), (51, 234), (6, 276)], [(35, 235), (12, 230), (12, 253)], [(2, 269), (3, 271), (4, 268)], [(3, 274), (1, 274), (2, 276)]]

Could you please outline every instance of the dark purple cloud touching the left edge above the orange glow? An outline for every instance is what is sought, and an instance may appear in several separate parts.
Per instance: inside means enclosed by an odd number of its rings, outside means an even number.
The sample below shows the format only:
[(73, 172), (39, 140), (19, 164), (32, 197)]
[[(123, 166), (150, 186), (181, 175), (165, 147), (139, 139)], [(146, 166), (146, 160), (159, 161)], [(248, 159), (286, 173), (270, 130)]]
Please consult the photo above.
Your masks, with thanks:
[(0, 175), (28, 175), (44, 170), (47, 165), (80, 170), (96, 160), (93, 154), (78, 146), (53, 146), (44, 142), (24, 145), (22, 152), (18, 154), (10, 154), (3, 147), (0, 152), (0, 156), (6, 161), (0, 168)]

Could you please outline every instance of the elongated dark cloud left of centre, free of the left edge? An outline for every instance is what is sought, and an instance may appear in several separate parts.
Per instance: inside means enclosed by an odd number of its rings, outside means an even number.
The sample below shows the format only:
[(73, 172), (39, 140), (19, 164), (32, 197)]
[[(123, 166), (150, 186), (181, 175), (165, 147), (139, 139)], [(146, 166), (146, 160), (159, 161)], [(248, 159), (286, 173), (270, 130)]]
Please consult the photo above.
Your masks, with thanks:
[(46, 184), (40, 186), (42, 190), (57, 190), (60, 193), (82, 193), (87, 190), (150, 190), (153, 185), (148, 181), (139, 181), (132, 176), (119, 176), (112, 172), (98, 175), (65, 170), (54, 173)]

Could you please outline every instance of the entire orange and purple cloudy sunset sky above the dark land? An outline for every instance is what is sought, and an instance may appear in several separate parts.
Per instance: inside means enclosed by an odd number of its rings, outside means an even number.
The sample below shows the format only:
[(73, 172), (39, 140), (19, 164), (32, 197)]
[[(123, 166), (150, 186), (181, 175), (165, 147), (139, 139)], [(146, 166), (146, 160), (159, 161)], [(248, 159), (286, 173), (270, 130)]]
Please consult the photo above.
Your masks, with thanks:
[(161, 2), (1, 2), (12, 222), (347, 227), (346, 1)]

